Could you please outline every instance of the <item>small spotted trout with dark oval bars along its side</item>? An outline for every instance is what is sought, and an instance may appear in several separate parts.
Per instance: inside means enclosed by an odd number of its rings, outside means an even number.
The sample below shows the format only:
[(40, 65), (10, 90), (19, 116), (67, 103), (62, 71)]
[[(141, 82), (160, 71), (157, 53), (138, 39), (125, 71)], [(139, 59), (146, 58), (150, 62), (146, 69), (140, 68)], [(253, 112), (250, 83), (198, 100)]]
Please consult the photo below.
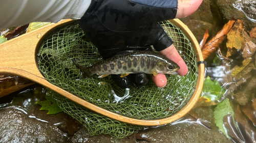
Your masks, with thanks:
[(180, 67), (172, 60), (166, 58), (158, 52), (154, 51), (126, 51), (126, 53), (115, 55), (112, 58), (98, 61), (92, 66), (80, 66), (75, 61), (73, 63), (78, 66), (83, 74), (90, 78), (94, 74), (98, 74), (98, 78), (108, 76), (110, 74), (121, 74), (125, 77), (131, 73), (146, 73), (156, 76), (162, 74), (178, 74)]

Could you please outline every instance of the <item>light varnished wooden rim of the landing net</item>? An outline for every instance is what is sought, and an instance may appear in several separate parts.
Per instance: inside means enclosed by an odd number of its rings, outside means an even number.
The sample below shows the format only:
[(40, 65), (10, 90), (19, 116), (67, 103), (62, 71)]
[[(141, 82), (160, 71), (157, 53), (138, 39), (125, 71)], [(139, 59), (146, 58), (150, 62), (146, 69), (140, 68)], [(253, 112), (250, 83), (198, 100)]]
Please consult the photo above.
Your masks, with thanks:
[[(202, 53), (201, 53), (201, 49), (199, 47), (199, 44), (195, 38), (195, 36), (191, 33), (191, 31), (188, 29), (188, 27), (181, 22), (179, 19), (174, 19), (174, 20), (169, 20), (170, 22), (172, 22), (173, 24), (175, 24), (176, 26), (178, 26), (179, 28), (181, 28), (181, 30), (183, 31), (183, 33), (186, 35), (186, 37), (190, 40), (191, 44), (193, 45), (194, 51), (197, 55), (197, 61), (203, 61), (203, 57), (202, 57)], [(71, 19), (67, 19), (67, 20), (62, 20), (58, 23), (52, 23), (49, 24), (45, 27), (39, 28), (38, 30), (35, 30), (31, 33), (25, 34), (21, 37), (18, 37), (18, 39), (22, 39), (24, 37), (29, 37), (30, 41), (31, 41), (31, 37), (34, 37), (34, 39), (36, 39), (35, 41), (35, 45), (38, 46), (38, 44), (40, 43), (40, 39), (44, 38), (45, 36), (47, 36), (50, 32), (56, 30), (56, 28), (67, 25), (72, 23)], [(40, 38), (38, 37), (38, 35), (40, 35)], [(7, 41), (5, 44), (8, 44), (12, 41)], [(31, 45), (31, 46), (35, 46), (35, 45)], [(29, 48), (29, 47), (28, 47)], [(33, 47), (35, 49), (34, 54), (30, 54), (30, 55), (36, 55), (36, 47)], [(33, 48), (30, 48), (29, 50), (31, 51)], [(35, 56), (31, 56), (31, 58), (34, 58), (35, 60)], [(36, 64), (36, 61), (33, 61), (33, 64)], [(26, 62), (25, 62), (26, 63)], [(29, 67), (31, 68), (31, 67)], [(49, 81), (47, 81), (41, 74), (38, 73), (39, 70), (37, 69), (37, 71), (32, 71), (30, 70), (24, 70), (23, 68), (16, 68), (16, 67), (6, 67), (6, 66), (2, 66), (0, 64), (0, 73), (5, 73), (5, 74), (15, 74), (18, 76), (22, 76), (25, 78), (28, 78), (32, 81), (35, 81), (41, 85), (44, 85), (45, 87), (61, 94), (62, 96), (88, 108), (91, 109), (105, 117), (120, 121), (120, 122), (124, 122), (124, 123), (128, 123), (128, 124), (133, 124), (133, 125), (140, 125), (140, 126), (159, 126), (159, 125), (164, 125), (167, 123), (171, 123), (174, 122), (180, 118), (182, 118), (191, 108), (194, 107), (194, 105), (196, 104), (201, 91), (202, 91), (202, 87), (203, 87), (203, 79), (204, 79), (204, 65), (203, 64), (199, 64), (198, 65), (198, 80), (197, 80), (197, 85), (196, 85), (196, 90), (194, 92), (194, 94), (191, 96), (190, 100), (188, 101), (187, 105), (185, 105), (180, 111), (178, 111), (177, 113), (175, 113), (175, 115), (170, 116), (168, 118), (164, 118), (164, 119), (159, 119), (159, 120), (139, 120), (139, 119), (133, 119), (133, 118), (129, 118), (129, 117), (124, 117), (121, 115), (118, 115), (116, 113), (113, 113), (109, 110), (105, 110), (103, 108), (100, 108), (92, 103), (89, 103), (85, 100), (82, 100), (81, 98), (61, 89), (58, 88), (57, 86), (51, 84)]]

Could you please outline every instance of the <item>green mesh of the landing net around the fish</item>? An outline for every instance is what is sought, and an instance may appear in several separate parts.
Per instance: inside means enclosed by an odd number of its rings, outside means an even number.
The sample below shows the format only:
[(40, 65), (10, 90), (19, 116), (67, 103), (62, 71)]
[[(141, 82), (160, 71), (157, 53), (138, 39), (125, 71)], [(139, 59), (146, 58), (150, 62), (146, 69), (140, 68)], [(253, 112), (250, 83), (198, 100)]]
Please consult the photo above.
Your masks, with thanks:
[[(157, 88), (150, 77), (144, 87), (131, 84), (130, 89), (125, 90), (120, 89), (110, 76), (84, 78), (72, 60), (81, 66), (90, 66), (102, 58), (76, 23), (60, 28), (45, 39), (37, 54), (38, 68), (52, 84), (119, 115), (142, 120), (170, 117), (182, 109), (193, 95), (198, 69), (193, 47), (180, 28), (169, 21), (160, 24), (173, 39), (189, 68), (185, 76), (166, 75), (164, 88)], [(90, 135), (103, 133), (121, 138), (142, 128), (98, 115), (54, 92), (50, 93), (63, 111), (88, 128)]]

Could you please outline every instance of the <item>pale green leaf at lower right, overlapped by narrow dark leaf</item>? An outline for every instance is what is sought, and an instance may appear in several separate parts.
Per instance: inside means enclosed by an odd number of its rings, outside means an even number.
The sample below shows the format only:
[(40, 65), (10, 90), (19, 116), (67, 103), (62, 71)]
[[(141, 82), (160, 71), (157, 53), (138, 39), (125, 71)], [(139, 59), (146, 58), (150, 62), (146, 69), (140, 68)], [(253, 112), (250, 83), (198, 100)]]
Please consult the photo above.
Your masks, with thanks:
[[(214, 119), (216, 126), (219, 127), (219, 130), (223, 132), (227, 138), (230, 138), (223, 121), (224, 116), (228, 114), (234, 117), (234, 111), (230, 106), (229, 99), (226, 98), (222, 103), (217, 104), (217, 106), (214, 108)], [(235, 120), (233, 119), (233, 121)]]

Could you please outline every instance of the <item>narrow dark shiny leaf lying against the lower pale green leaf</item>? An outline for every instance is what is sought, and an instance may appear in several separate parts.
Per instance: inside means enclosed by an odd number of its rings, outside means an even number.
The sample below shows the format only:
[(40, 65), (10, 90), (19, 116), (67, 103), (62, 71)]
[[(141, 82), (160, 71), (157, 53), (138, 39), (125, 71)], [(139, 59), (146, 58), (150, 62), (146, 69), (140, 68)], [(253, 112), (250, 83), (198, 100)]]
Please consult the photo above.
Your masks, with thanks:
[(226, 126), (226, 128), (228, 130), (228, 134), (232, 137), (232, 139), (235, 142), (244, 142), (244, 138), (238, 132), (236, 127), (234, 127), (232, 115), (229, 114), (227, 116), (224, 116), (223, 121), (224, 121), (224, 125)]

